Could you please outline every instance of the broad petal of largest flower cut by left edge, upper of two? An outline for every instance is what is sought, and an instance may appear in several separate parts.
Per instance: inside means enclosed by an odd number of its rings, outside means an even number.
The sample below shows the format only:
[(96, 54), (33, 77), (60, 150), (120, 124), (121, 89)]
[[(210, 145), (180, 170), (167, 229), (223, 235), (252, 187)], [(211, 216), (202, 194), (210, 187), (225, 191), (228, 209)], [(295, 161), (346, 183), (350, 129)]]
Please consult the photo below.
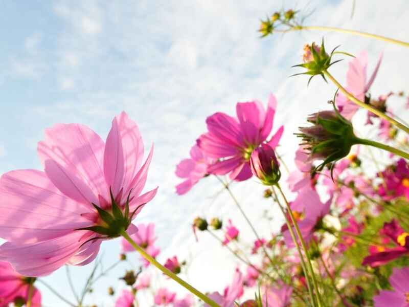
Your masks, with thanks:
[(63, 195), (38, 170), (4, 174), (0, 198), (7, 199), (0, 204), (0, 237), (12, 242), (52, 239), (92, 223), (80, 216), (86, 210), (84, 205)]

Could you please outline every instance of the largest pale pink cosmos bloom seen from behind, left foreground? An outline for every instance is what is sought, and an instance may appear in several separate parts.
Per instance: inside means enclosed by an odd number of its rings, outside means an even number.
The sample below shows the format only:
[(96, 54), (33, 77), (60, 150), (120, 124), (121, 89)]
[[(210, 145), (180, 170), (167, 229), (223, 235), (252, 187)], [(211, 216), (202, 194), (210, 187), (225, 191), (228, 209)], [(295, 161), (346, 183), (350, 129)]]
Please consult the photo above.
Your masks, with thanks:
[(80, 124), (47, 129), (38, 143), (44, 172), (15, 170), (0, 179), (0, 237), (9, 241), (0, 260), (22, 275), (47, 275), (91, 262), (102, 239), (119, 236), (119, 226), (136, 232), (131, 220), (157, 190), (140, 195), (152, 150), (142, 164), (142, 137), (124, 112), (105, 143)]

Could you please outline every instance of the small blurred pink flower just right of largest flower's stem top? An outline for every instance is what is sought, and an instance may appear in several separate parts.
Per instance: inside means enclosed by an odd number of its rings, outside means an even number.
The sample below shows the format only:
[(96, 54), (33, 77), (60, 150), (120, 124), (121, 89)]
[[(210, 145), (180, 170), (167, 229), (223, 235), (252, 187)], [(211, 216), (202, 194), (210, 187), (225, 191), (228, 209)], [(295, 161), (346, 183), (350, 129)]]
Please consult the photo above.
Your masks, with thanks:
[[(153, 258), (161, 252), (161, 249), (154, 246), (153, 244), (156, 241), (155, 236), (155, 224), (139, 224), (138, 225), (138, 232), (131, 235), (131, 238), (137, 243), (140, 247), (144, 248), (145, 251), (151, 255)], [(135, 249), (130, 245), (130, 243), (122, 238), (122, 252), (134, 252)], [(144, 267), (148, 267), (150, 265), (149, 261), (146, 260), (144, 257), (141, 257), (140, 260), (143, 262)]]

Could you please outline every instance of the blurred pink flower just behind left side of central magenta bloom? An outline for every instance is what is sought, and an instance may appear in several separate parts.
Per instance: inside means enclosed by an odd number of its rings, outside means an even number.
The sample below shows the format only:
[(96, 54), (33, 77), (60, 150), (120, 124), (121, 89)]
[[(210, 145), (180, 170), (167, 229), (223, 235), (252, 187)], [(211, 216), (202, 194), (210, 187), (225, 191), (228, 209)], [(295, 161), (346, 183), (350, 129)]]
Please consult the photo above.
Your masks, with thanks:
[(176, 166), (176, 176), (186, 179), (176, 186), (176, 193), (185, 194), (203, 177), (208, 174), (208, 166), (213, 163), (213, 159), (207, 158), (199, 146), (194, 145), (190, 149), (191, 159), (184, 159)]

